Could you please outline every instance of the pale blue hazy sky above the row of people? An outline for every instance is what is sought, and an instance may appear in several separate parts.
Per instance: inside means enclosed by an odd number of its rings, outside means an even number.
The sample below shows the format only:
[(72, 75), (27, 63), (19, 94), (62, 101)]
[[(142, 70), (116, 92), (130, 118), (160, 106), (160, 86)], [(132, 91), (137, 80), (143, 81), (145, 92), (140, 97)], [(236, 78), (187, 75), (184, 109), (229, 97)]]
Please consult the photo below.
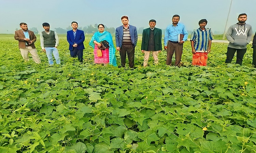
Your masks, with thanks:
[[(51, 29), (66, 29), (72, 21), (80, 28), (104, 24), (107, 27), (122, 25), (121, 17), (129, 17), (129, 24), (148, 28), (148, 21), (155, 19), (156, 27), (165, 29), (173, 15), (181, 16), (187, 30), (198, 28), (200, 19), (208, 20), (208, 28), (223, 32), (231, 0), (0, 0), (0, 33), (14, 33), (20, 22), (29, 28), (43, 31), (42, 23), (48, 22)], [(238, 15), (246, 13), (247, 24), (256, 30), (256, 0), (233, 0), (228, 18), (228, 27), (237, 23)]]

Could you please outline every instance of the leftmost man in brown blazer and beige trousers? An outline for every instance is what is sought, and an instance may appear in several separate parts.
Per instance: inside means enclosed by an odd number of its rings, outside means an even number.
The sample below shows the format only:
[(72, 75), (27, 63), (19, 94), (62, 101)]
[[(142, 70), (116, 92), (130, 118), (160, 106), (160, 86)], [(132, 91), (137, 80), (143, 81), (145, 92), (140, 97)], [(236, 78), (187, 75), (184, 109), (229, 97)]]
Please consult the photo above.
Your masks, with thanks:
[(19, 41), (19, 50), (25, 61), (29, 61), (28, 53), (32, 55), (35, 63), (41, 63), (40, 57), (37, 54), (37, 49), (35, 49), (35, 41), (37, 37), (33, 31), (28, 30), (28, 25), (26, 23), (20, 23), (20, 30), (15, 31), (14, 39)]

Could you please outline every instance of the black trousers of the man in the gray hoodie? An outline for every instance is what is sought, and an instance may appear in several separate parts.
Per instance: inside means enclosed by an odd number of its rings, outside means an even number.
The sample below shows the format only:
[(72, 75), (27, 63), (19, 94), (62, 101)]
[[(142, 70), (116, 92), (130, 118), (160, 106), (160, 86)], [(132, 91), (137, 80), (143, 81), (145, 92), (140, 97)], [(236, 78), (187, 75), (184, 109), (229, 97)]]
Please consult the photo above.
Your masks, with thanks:
[(230, 48), (228, 47), (227, 50), (227, 58), (225, 63), (231, 63), (232, 59), (234, 57), (234, 54), (237, 52), (237, 61), (236, 64), (242, 65), (244, 54), (246, 53), (247, 48), (245, 49), (236, 49), (236, 48)]

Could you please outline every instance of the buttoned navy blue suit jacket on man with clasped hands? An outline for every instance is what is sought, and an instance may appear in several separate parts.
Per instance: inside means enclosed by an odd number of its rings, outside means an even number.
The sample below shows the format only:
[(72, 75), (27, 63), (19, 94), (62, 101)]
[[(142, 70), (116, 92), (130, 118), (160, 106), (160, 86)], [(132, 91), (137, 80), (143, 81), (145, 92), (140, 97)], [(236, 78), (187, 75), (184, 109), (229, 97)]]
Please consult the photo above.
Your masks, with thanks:
[(73, 45), (77, 44), (77, 50), (83, 50), (84, 48), (84, 31), (83, 30), (76, 30), (76, 34), (74, 37), (73, 30), (67, 31), (67, 40), (69, 43), (69, 50), (73, 50)]

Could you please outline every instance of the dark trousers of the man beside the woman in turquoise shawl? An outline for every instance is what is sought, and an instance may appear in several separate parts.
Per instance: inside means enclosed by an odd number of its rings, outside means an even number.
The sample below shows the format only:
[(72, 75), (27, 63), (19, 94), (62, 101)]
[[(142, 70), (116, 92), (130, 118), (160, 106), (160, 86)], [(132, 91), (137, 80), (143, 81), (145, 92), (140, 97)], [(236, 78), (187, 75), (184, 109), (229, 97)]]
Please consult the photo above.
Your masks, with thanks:
[(126, 63), (126, 53), (129, 61), (129, 67), (134, 68), (134, 53), (135, 53), (135, 48), (133, 45), (122, 45), (120, 48), (120, 58), (121, 58), (121, 64), (122, 67), (125, 67)]

